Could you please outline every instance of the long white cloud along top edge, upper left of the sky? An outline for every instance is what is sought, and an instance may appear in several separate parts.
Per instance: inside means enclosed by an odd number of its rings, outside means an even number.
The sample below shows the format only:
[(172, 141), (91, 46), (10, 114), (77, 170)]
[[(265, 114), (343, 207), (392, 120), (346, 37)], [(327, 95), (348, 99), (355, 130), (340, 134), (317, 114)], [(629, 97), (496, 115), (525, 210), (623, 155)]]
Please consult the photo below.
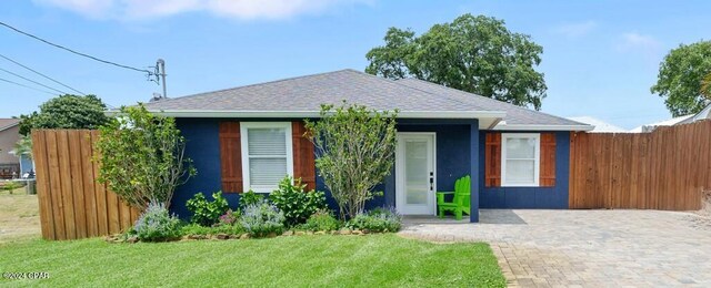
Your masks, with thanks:
[(148, 19), (208, 12), (240, 20), (284, 19), (372, 0), (34, 0), (89, 18)]

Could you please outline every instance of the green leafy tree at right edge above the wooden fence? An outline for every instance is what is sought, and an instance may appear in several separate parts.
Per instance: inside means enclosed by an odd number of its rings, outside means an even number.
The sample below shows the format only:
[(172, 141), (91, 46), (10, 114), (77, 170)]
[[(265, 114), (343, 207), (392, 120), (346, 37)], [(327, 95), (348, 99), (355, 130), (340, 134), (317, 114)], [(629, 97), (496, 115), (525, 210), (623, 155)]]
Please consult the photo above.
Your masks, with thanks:
[[(709, 104), (704, 78), (711, 73), (711, 41), (681, 44), (672, 49), (659, 66), (657, 84), (650, 90), (664, 97), (673, 116), (694, 114)], [(705, 95), (704, 95), (705, 94)]]

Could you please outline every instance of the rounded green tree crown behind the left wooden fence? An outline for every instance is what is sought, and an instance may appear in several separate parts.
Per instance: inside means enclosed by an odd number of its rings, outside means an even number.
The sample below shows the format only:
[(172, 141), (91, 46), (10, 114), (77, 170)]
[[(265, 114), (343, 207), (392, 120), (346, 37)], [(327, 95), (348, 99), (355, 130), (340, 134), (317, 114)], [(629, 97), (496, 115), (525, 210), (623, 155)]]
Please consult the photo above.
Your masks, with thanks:
[(98, 128), (109, 122), (106, 109), (96, 95), (53, 97), (40, 105), (39, 113), (20, 115), (20, 134), (29, 135), (33, 128)]

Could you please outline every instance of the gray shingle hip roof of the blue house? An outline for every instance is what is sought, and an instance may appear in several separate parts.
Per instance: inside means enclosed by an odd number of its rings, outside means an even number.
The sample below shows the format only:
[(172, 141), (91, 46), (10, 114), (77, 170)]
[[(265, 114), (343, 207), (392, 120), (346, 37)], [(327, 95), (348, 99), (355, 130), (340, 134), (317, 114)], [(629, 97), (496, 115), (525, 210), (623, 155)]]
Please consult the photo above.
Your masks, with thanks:
[(147, 103), (151, 111), (318, 112), (358, 103), (401, 112), (505, 111), (507, 124), (584, 125), (420, 80), (392, 81), (347, 69)]

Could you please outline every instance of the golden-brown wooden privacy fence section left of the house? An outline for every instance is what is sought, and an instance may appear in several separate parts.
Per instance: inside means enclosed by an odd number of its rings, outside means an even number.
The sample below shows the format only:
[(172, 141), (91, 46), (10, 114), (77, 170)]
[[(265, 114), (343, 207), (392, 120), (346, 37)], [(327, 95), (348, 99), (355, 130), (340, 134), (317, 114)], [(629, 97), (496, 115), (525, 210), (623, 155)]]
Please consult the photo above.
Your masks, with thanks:
[(32, 131), (37, 194), (44, 239), (79, 239), (119, 233), (138, 218), (138, 210), (97, 182), (91, 161), (98, 131)]

